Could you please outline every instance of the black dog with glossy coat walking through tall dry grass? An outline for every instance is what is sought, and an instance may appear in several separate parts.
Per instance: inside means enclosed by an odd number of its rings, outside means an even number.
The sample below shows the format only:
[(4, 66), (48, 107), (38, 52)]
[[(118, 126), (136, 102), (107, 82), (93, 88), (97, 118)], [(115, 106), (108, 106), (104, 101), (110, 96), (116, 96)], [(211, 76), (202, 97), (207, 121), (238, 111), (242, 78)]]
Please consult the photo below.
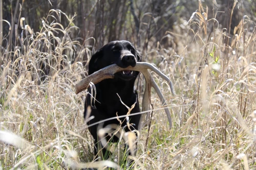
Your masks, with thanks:
[[(140, 56), (136, 52), (135, 47), (129, 41), (112, 41), (108, 44), (105, 44), (100, 48), (91, 58), (89, 62), (89, 75), (93, 74), (95, 71), (98, 71), (101, 68), (109, 66), (111, 64), (117, 64), (119, 67), (126, 68), (127, 66), (134, 67), (137, 61), (141, 61)], [(137, 91), (134, 88), (134, 82), (137, 78), (138, 71), (125, 70), (117, 72), (114, 79), (105, 79), (98, 84), (96, 84), (96, 102), (92, 106), (90, 116), (94, 116), (89, 125), (99, 122), (107, 118), (115, 117), (116, 113), (118, 116), (126, 115), (128, 109), (121, 103), (122, 102), (131, 106), (137, 101), (134, 109), (131, 113), (140, 112), (139, 102), (137, 98)], [(89, 89), (90, 92), (90, 89)], [(119, 96), (120, 98), (119, 98)], [(91, 95), (87, 95), (86, 102), (84, 104), (84, 117), (87, 117), (87, 107), (91, 106)], [(140, 114), (129, 116), (130, 124), (133, 124), (131, 129), (138, 130)], [(120, 120), (123, 120), (120, 119)], [(117, 124), (120, 122), (117, 119), (112, 119), (107, 122), (104, 122), (103, 127)], [(126, 120), (122, 126), (126, 125)], [(97, 125), (94, 125), (89, 128), (90, 133), (95, 139), (95, 146), (98, 144), (98, 135), (97, 135)], [(129, 129), (126, 128), (125, 131)], [(109, 140), (109, 138), (107, 137)], [(118, 138), (114, 136), (112, 142), (117, 142)], [(99, 141), (100, 142), (100, 141)], [(97, 154), (97, 147), (94, 147), (94, 153)], [(104, 156), (106, 149), (102, 149), (102, 155)]]

